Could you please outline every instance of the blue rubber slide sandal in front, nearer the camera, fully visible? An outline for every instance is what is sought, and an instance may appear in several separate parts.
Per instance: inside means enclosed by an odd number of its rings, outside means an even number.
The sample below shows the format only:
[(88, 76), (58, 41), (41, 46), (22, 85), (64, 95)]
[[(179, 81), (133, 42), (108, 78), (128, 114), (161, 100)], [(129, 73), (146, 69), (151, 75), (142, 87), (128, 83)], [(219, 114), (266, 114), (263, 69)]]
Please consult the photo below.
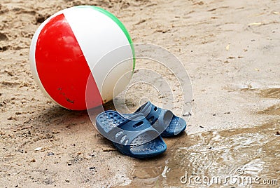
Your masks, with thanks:
[(148, 158), (167, 149), (158, 130), (141, 113), (125, 118), (116, 111), (108, 110), (96, 117), (96, 125), (99, 132), (127, 156)]

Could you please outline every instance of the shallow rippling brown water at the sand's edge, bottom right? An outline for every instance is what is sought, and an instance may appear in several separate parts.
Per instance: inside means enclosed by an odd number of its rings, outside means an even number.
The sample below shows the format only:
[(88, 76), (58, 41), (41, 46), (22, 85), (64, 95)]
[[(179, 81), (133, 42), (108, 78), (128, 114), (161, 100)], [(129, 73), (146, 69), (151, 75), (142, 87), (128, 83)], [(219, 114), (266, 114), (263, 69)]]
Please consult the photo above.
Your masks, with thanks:
[(279, 187), (279, 124), (183, 135), (165, 156), (137, 161), (130, 187)]

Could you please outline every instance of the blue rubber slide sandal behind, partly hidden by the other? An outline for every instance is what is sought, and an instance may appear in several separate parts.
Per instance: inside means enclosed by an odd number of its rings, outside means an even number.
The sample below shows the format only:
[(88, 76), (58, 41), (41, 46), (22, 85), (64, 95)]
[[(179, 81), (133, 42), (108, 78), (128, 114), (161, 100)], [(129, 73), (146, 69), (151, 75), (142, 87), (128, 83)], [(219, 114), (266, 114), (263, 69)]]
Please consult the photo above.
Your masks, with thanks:
[[(183, 133), (187, 127), (187, 123), (179, 116), (175, 116), (171, 111), (161, 109), (153, 105), (150, 101), (139, 107), (134, 114), (144, 114), (151, 125), (158, 130), (162, 137), (174, 137)], [(124, 114), (126, 118), (134, 116), (134, 114)], [(171, 116), (171, 118), (170, 118)], [(162, 119), (164, 119), (162, 121)], [(167, 121), (169, 120), (170, 121)]]

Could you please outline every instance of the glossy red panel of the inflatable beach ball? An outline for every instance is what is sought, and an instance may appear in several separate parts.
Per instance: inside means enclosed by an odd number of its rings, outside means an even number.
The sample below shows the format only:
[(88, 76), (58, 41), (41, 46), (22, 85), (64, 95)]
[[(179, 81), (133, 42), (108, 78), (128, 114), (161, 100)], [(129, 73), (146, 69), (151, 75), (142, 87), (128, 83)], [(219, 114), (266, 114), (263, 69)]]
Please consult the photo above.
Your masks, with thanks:
[[(36, 43), (38, 77), (50, 97), (67, 109), (86, 109), (102, 105), (97, 84), (92, 77), (78, 41), (63, 14), (50, 19)], [(88, 79), (90, 76), (90, 79)], [(87, 81), (92, 83), (87, 84)], [(85, 90), (92, 99), (85, 102)], [(87, 98), (88, 100), (88, 98)]]

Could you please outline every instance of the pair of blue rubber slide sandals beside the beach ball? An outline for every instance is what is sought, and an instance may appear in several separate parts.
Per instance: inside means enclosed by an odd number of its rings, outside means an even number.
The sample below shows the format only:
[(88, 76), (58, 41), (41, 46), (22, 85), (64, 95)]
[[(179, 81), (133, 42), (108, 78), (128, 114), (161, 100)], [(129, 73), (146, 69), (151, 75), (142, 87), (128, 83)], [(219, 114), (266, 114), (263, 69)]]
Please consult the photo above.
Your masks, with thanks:
[(121, 153), (135, 158), (162, 154), (167, 149), (162, 137), (174, 137), (186, 129), (185, 120), (151, 102), (146, 102), (134, 114), (102, 112), (96, 117), (96, 125)]

